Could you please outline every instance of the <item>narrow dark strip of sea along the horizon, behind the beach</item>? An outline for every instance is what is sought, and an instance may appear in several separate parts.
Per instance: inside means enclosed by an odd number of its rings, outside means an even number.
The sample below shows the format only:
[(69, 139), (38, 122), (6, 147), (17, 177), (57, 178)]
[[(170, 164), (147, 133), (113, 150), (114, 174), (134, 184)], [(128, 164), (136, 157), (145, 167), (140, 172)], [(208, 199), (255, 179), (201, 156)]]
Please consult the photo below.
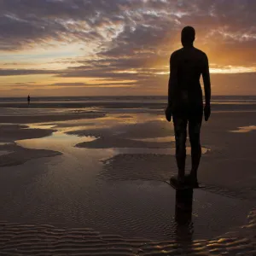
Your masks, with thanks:
[[(29, 108), (75, 108), (93, 112), (160, 112), (167, 96), (33, 97)], [(28, 108), (26, 97), (2, 97), (0, 108)], [(212, 96), (212, 111), (254, 111), (256, 96)], [(2, 109), (3, 112), (3, 109)]]

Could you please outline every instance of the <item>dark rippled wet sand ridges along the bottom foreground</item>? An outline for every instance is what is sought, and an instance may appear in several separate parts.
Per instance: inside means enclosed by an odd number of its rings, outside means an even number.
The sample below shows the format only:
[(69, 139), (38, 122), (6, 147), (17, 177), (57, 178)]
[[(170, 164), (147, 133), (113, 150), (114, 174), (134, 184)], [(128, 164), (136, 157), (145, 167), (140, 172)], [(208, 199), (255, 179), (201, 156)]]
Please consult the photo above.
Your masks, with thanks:
[[(253, 216), (253, 217), (252, 217)], [(256, 224), (256, 211), (250, 221)], [(104, 235), (91, 229), (64, 229), (57, 239), (49, 233), (60, 234), (51, 225), (20, 225), (0, 222), (1, 255), (247, 255), (256, 253), (255, 227), (225, 233), (212, 240), (152, 241), (143, 238), (125, 239)], [(14, 230), (15, 229), (15, 230)], [(33, 232), (32, 232), (33, 231)], [(77, 233), (79, 231), (79, 233)], [(68, 234), (73, 234), (73, 239)], [(31, 234), (31, 236), (27, 236)]]

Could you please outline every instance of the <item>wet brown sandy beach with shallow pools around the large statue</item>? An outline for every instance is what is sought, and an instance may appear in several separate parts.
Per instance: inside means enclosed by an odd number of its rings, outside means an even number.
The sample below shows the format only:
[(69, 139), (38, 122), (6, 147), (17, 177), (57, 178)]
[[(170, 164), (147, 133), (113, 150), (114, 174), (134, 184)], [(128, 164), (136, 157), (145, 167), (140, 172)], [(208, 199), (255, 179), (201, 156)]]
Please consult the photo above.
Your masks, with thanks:
[(180, 225), (161, 104), (0, 108), (0, 255), (255, 255), (256, 107), (212, 109)]

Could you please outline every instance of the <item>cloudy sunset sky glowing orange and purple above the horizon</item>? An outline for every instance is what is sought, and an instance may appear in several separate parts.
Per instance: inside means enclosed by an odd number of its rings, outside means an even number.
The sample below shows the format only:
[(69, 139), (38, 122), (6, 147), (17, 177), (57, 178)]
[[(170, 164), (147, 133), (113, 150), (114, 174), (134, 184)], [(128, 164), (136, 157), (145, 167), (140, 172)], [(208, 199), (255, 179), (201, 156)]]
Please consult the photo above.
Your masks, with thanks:
[(253, 0), (0, 0), (0, 96), (164, 96), (184, 26), (212, 95), (256, 95), (255, 13)]

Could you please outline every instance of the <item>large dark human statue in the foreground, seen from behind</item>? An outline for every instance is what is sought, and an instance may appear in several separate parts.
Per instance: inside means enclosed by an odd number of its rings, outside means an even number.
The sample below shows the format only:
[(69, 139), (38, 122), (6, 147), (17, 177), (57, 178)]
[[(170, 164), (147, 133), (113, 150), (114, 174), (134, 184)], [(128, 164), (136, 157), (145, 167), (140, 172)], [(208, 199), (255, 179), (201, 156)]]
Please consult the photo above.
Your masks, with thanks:
[[(168, 106), (166, 119), (173, 119), (176, 160), (180, 185), (185, 183), (187, 125), (191, 144), (192, 168), (189, 183), (198, 185), (197, 169), (201, 160), (201, 122), (204, 113), (207, 121), (211, 115), (211, 82), (207, 55), (194, 47), (195, 29), (185, 26), (181, 33), (182, 49), (174, 51), (170, 58)], [(200, 84), (202, 74), (205, 90), (205, 106)]]

